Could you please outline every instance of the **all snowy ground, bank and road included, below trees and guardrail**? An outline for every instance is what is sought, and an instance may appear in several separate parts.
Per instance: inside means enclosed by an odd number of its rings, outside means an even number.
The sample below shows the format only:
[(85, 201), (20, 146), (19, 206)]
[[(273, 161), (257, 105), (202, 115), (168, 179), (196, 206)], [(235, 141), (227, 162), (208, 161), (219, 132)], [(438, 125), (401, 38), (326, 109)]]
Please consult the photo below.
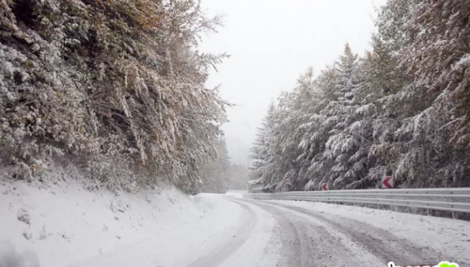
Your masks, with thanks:
[(74, 180), (3, 180), (0, 192), (0, 267), (470, 266), (470, 222), (459, 220), (244, 191), (114, 195)]

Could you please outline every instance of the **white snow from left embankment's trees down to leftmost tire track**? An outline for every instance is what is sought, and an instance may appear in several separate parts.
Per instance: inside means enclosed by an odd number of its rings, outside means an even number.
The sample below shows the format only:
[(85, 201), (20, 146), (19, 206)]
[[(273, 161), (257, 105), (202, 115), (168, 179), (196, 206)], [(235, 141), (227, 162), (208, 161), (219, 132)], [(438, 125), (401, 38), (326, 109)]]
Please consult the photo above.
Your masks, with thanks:
[(30, 262), (20, 267), (186, 266), (227, 242), (246, 217), (220, 196), (171, 188), (115, 195), (76, 180), (0, 180), (0, 192), (1, 267), (14, 257)]

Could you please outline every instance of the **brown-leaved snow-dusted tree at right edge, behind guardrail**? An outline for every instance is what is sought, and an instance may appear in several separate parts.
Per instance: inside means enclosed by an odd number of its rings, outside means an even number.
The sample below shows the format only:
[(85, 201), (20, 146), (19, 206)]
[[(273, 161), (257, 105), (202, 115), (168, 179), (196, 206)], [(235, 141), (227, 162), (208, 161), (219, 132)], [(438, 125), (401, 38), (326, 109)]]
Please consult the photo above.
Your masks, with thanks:
[(415, 1), (399, 53), (413, 80), (400, 96), (415, 103), (397, 130), (409, 149), (398, 172), (413, 186), (468, 186), (469, 1)]

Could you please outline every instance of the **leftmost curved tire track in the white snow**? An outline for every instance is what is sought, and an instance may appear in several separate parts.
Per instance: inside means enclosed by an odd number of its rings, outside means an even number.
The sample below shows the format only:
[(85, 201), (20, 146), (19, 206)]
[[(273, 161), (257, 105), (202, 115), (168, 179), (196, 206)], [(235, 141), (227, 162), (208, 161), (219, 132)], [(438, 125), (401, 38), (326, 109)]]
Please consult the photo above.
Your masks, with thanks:
[(188, 267), (220, 266), (220, 264), (232, 256), (246, 242), (246, 240), (250, 238), (253, 228), (255, 227), (256, 223), (258, 223), (258, 217), (256, 213), (246, 204), (240, 203), (231, 198), (226, 199), (240, 205), (247, 214), (245, 216), (247, 217), (247, 220), (238, 227), (233, 238), (227, 238), (226, 244), (192, 262), (188, 265)]

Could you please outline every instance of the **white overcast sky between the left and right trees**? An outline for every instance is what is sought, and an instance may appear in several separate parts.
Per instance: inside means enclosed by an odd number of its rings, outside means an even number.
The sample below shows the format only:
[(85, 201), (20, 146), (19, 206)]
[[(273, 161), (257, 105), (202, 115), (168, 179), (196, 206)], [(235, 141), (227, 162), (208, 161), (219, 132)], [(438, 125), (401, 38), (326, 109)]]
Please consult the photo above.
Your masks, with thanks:
[(291, 90), (308, 67), (318, 73), (343, 51), (370, 48), (375, 7), (386, 0), (202, 0), (225, 26), (205, 36), (200, 50), (231, 55), (207, 85), (237, 106), (224, 125), (232, 161), (248, 163), (248, 149), (269, 103)]

